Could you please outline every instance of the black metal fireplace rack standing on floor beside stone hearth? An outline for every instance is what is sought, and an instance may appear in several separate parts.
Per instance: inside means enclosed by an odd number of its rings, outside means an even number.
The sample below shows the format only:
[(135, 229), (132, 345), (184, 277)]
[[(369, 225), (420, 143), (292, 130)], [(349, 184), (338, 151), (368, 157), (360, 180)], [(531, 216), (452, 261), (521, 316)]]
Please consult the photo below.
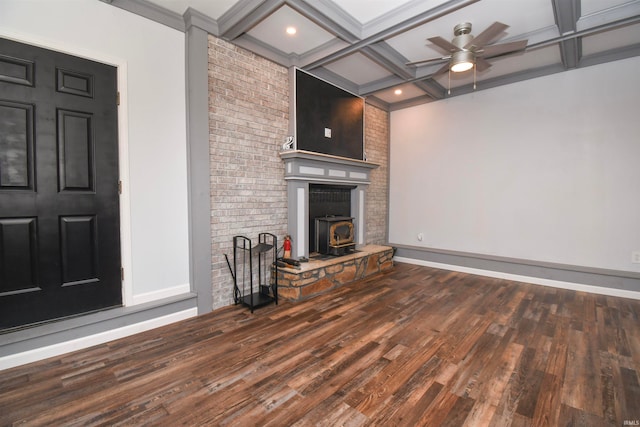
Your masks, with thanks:
[[(257, 254), (258, 275), (254, 286), (253, 257)], [(252, 246), (245, 236), (233, 237), (233, 298), (236, 304), (253, 309), (275, 302), (278, 304), (278, 238), (271, 233), (258, 234)]]

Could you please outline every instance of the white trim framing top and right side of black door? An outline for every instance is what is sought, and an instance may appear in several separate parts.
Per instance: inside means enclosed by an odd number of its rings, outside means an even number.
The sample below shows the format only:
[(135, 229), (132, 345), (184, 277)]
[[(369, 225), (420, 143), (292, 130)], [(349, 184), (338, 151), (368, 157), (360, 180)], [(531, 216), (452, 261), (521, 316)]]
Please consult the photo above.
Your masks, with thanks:
[(131, 249), (131, 193), (129, 191), (129, 139), (127, 132), (129, 129), (127, 120), (129, 116), (127, 62), (123, 58), (113, 57), (102, 52), (89, 51), (68, 43), (62, 44), (56, 40), (33, 37), (32, 35), (4, 30), (0, 31), (0, 37), (116, 67), (118, 92), (120, 94), (118, 106), (118, 175), (122, 182), (122, 191), (120, 193), (120, 263), (124, 269), (122, 305), (124, 307), (135, 305), (133, 282), (131, 280), (133, 261)]

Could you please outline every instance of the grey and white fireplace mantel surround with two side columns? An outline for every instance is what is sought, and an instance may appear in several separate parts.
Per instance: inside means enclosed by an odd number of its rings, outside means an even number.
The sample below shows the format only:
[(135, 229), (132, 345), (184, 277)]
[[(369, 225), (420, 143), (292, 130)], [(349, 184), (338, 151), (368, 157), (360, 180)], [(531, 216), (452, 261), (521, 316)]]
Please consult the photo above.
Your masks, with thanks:
[(356, 248), (364, 245), (365, 212), (370, 172), (379, 165), (362, 160), (314, 153), (283, 151), (284, 179), (287, 181), (288, 232), (293, 241), (292, 257), (309, 258), (309, 184), (355, 186), (351, 190), (351, 216), (355, 227)]

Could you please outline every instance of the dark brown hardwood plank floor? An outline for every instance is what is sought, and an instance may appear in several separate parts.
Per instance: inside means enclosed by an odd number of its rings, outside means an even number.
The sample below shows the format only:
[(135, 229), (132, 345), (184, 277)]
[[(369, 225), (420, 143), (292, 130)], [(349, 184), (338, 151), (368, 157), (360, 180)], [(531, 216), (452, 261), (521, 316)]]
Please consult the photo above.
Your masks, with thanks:
[(639, 315), (397, 264), (2, 371), (0, 425), (638, 425)]

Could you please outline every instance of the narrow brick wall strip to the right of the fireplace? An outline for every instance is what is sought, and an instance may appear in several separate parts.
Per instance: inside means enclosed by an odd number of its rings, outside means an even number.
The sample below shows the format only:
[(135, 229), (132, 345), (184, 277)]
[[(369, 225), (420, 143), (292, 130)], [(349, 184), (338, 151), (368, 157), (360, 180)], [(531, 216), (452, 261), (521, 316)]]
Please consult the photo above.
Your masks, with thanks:
[(365, 106), (365, 151), (367, 160), (380, 167), (371, 171), (367, 189), (366, 243), (387, 243), (389, 201), (389, 113), (380, 108)]

